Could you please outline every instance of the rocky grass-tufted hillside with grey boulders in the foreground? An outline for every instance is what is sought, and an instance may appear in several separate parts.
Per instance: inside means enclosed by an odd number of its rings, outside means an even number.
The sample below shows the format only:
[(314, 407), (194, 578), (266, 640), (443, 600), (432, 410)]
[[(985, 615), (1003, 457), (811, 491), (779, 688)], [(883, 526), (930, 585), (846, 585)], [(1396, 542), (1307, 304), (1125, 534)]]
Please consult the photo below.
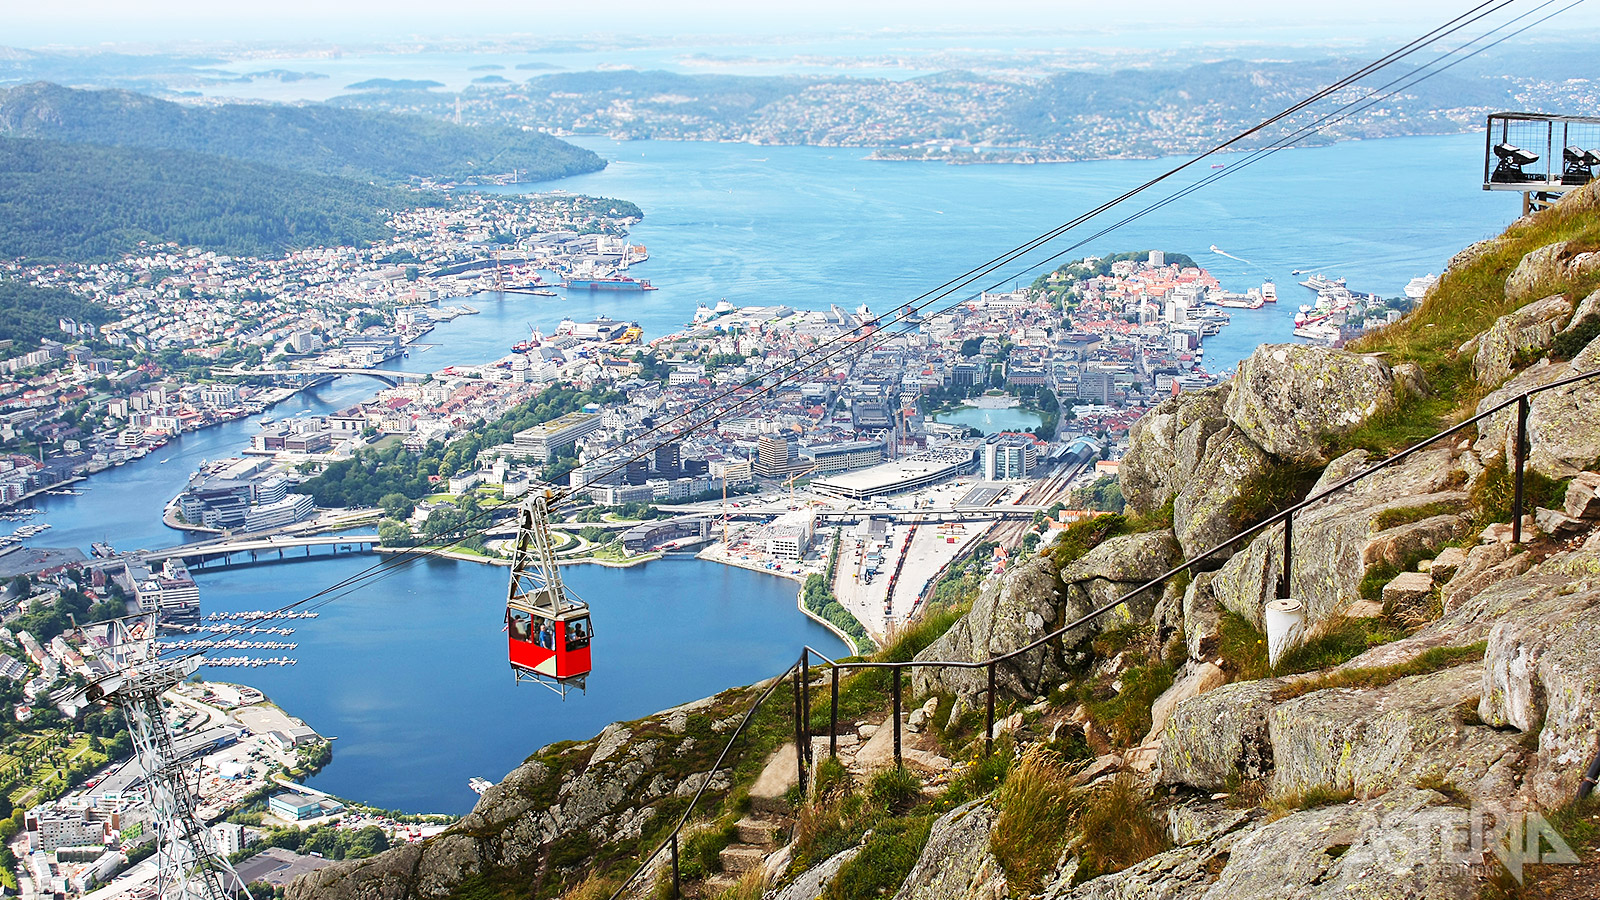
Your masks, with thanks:
[[(1600, 753), (1600, 380), (1530, 404), (1522, 544), (1514, 413), (1314, 503), (1291, 559), (1282, 525), (1232, 538), (1504, 397), (1600, 368), (1597, 250), (1590, 187), (1459, 255), (1362, 346), (1264, 346), (1230, 384), (1152, 410), (1122, 468), (1128, 516), (1078, 524), (989, 580), (917, 660), (1008, 653), (1202, 564), (1002, 665), (994, 698), (982, 669), (912, 669), (904, 769), (888, 677), (848, 679), (840, 759), (816, 738), (813, 788), (787, 809), (774, 778), (792, 756), (752, 785), (787, 721), (768, 706), (714, 778), (725, 802), (688, 844), (686, 894), (1592, 897), (1600, 809), (1574, 796)], [(1285, 588), (1309, 631), (1269, 665), (1264, 607)], [(747, 700), (546, 748), (446, 834), (322, 870), (290, 900), (608, 897)], [(1514, 825), (1544, 834), (1526, 812), (1581, 862), (1550, 858), (1547, 834), (1544, 865), (1496, 854)], [(634, 895), (669, 895), (661, 871)]]

